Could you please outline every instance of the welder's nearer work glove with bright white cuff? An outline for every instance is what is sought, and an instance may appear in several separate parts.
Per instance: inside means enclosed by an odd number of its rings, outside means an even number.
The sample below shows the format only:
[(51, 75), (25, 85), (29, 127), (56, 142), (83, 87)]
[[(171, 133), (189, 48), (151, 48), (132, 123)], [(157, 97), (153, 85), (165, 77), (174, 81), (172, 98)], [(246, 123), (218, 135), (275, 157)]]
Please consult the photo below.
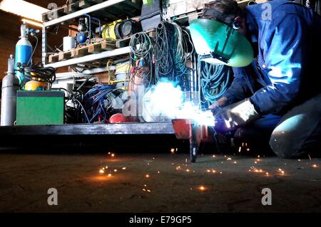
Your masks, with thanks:
[(217, 110), (214, 117), (215, 129), (221, 132), (229, 132), (258, 119), (260, 115), (256, 112), (250, 100), (245, 99)]

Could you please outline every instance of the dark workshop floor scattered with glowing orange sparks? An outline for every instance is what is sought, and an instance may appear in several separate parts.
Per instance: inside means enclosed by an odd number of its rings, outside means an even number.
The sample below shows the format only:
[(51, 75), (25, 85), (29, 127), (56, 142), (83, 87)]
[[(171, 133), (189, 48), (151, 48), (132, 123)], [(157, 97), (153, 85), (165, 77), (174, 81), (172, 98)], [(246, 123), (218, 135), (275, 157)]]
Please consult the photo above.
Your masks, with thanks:
[[(321, 211), (320, 159), (206, 154), (191, 164), (187, 158), (0, 154), (0, 212)], [(49, 188), (58, 190), (58, 206), (47, 204)], [(271, 206), (261, 204), (263, 188), (272, 190)]]

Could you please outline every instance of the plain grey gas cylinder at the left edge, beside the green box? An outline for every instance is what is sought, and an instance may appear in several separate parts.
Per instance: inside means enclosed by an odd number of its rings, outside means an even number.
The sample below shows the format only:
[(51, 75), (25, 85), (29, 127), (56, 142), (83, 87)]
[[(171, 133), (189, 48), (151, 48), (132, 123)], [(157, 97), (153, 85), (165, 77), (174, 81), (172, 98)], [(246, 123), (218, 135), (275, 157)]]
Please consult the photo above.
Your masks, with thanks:
[(16, 91), (19, 79), (14, 75), (14, 56), (8, 59), (8, 72), (2, 79), (1, 126), (14, 125), (16, 121)]

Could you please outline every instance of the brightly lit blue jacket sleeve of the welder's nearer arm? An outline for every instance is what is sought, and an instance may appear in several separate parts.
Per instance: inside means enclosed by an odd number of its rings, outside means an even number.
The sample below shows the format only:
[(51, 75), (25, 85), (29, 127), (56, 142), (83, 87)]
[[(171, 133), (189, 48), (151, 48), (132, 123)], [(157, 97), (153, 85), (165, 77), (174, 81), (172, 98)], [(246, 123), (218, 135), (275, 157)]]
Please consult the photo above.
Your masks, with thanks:
[(265, 58), (260, 68), (267, 70), (271, 85), (250, 97), (259, 114), (277, 112), (297, 97), (308, 58), (306, 34), (307, 23), (295, 14), (270, 22), (260, 41)]

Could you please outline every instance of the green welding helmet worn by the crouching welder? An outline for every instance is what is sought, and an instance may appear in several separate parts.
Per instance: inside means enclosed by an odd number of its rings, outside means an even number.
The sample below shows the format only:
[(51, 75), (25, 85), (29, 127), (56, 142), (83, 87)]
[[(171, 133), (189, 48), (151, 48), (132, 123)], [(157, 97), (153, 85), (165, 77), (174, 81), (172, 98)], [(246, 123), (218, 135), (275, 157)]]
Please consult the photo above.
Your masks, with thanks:
[(250, 42), (242, 33), (225, 23), (195, 19), (190, 22), (190, 36), (200, 60), (205, 62), (244, 67), (253, 60)]

